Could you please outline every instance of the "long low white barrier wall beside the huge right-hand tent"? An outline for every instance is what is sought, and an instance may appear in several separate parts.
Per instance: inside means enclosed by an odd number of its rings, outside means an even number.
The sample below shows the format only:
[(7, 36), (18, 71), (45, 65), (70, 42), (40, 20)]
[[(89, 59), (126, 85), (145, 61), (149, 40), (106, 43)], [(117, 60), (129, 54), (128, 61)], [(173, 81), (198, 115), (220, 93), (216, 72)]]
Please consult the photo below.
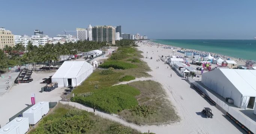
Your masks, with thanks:
[(219, 105), (226, 112), (231, 114), (234, 118), (236, 118), (239, 122), (241, 122), (244, 126), (246, 126), (249, 130), (251, 130), (253, 133), (256, 133), (256, 123), (255, 123), (255, 121), (253, 121), (250, 118), (246, 118), (240, 112), (236, 111), (234, 108), (229, 106), (226, 102), (223, 102), (222, 100), (217, 98), (215, 95), (213, 95), (211, 92), (209, 92), (207, 89), (202, 87), (200, 84), (198, 84), (197, 82), (192, 80), (191, 77), (189, 77), (188, 80), (189, 80), (190, 83), (194, 84), (196, 87), (198, 87), (198, 89), (200, 89), (202, 92), (204, 92), (205, 95), (209, 96), (214, 102), (216, 102), (217, 105)]

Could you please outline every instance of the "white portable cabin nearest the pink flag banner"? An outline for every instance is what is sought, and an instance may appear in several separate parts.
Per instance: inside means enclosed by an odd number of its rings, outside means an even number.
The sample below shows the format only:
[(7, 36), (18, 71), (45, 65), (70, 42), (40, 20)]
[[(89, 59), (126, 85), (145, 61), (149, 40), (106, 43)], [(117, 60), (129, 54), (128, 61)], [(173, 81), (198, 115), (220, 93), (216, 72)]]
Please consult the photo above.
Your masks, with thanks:
[(23, 117), (28, 117), (29, 124), (34, 125), (48, 112), (49, 102), (38, 102), (23, 112), (22, 115)]

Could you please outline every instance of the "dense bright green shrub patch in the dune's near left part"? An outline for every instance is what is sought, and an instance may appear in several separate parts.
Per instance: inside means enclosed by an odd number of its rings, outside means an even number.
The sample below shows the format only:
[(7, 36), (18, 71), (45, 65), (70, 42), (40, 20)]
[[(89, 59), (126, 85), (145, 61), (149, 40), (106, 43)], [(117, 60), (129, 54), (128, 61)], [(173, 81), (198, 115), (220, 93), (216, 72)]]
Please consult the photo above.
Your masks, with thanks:
[(105, 112), (117, 113), (124, 109), (130, 109), (137, 106), (138, 101), (135, 96), (139, 94), (140, 92), (138, 89), (126, 84), (121, 84), (95, 90), (87, 97), (75, 96), (72, 98), (72, 101), (91, 107), (96, 106)]

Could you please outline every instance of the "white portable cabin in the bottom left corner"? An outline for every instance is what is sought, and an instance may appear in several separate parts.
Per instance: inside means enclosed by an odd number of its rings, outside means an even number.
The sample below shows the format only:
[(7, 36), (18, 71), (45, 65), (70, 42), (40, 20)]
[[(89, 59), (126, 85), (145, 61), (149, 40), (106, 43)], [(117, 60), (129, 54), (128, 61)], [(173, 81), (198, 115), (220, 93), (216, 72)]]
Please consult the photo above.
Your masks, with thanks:
[(0, 128), (0, 134), (25, 134), (29, 130), (28, 118), (16, 117)]

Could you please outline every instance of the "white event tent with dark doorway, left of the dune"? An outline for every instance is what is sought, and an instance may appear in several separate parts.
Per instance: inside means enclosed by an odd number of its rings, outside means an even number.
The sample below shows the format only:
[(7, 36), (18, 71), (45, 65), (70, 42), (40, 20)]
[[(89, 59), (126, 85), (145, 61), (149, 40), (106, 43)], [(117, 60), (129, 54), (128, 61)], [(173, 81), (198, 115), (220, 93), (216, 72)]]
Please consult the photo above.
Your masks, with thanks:
[(86, 61), (65, 61), (51, 79), (60, 87), (74, 87), (81, 84), (91, 73), (93, 66)]

